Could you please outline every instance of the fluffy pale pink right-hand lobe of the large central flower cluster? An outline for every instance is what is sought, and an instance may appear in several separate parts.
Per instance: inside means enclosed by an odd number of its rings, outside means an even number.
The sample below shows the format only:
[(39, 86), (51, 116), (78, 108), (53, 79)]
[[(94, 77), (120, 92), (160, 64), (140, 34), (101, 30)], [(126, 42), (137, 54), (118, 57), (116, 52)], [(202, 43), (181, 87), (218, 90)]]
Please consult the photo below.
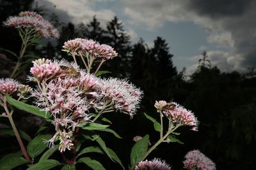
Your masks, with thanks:
[(134, 87), (132, 83), (118, 78), (108, 78), (102, 80), (102, 95), (104, 101), (113, 103), (116, 110), (134, 115), (138, 104), (141, 101), (143, 92)]

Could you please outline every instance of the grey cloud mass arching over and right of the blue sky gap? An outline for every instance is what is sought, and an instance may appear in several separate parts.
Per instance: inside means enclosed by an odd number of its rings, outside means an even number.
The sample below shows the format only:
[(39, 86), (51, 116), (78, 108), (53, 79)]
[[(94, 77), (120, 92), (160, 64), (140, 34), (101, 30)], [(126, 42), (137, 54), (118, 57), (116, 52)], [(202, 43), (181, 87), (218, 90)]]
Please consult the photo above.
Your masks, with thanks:
[(209, 51), (210, 59), (223, 71), (256, 66), (256, 1), (129, 0), (125, 4), (129, 23), (146, 24), (148, 29), (166, 22), (190, 21), (202, 26), (208, 43), (220, 49)]

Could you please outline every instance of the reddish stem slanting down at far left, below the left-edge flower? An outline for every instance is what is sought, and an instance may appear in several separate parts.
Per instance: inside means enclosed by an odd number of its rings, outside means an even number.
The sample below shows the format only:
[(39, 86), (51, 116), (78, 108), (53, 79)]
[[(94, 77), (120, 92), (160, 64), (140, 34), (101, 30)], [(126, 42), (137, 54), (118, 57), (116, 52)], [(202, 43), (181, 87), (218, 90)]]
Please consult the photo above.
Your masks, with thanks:
[(9, 118), (10, 123), (11, 123), (11, 125), (12, 125), (12, 129), (13, 129), (13, 131), (14, 131), (14, 134), (15, 134), (15, 136), (16, 136), (18, 142), (19, 142), (19, 145), (20, 145), (20, 148), (21, 148), (21, 150), (22, 150), (22, 153), (23, 153), (25, 159), (26, 159), (28, 162), (31, 162), (31, 159), (30, 159), (30, 157), (29, 157), (29, 155), (28, 155), (28, 152), (27, 152), (27, 150), (26, 150), (26, 148), (25, 148), (25, 146), (24, 146), (24, 144), (23, 144), (23, 142), (22, 142), (22, 139), (20, 138), (19, 132), (18, 132), (18, 130), (17, 130), (17, 128), (16, 128), (16, 126), (15, 126), (15, 124), (14, 124), (14, 122), (13, 122), (12, 114), (10, 113), (10, 111), (9, 111), (8, 108), (7, 108), (6, 97), (4, 97), (4, 105), (3, 105), (3, 106), (4, 106), (4, 110), (6, 111), (7, 117)]

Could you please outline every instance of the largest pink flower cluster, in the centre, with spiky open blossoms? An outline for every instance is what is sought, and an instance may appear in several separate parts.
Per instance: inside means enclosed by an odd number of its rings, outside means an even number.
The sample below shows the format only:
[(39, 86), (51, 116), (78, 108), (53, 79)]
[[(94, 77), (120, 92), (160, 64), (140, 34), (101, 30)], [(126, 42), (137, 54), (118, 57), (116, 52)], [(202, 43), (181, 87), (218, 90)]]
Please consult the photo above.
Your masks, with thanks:
[[(141, 90), (126, 80), (100, 79), (65, 60), (33, 61), (29, 80), (37, 82), (31, 90), (36, 106), (51, 113), (56, 134), (49, 140), (60, 141), (61, 152), (70, 150), (72, 136), (79, 124), (92, 121), (90, 110), (100, 113), (120, 110), (133, 115), (140, 103)], [(95, 113), (95, 111), (93, 111)]]

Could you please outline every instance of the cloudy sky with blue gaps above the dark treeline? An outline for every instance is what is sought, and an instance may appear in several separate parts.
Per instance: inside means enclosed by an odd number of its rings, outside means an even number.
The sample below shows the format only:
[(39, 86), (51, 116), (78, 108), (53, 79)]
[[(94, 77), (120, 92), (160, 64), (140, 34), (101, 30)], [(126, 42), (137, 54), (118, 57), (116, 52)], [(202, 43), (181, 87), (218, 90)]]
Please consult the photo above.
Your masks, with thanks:
[(122, 20), (132, 43), (148, 46), (161, 36), (173, 64), (193, 73), (205, 50), (221, 71), (247, 71), (256, 65), (256, 0), (40, 0), (45, 13), (62, 22), (87, 24), (96, 15), (103, 25)]

